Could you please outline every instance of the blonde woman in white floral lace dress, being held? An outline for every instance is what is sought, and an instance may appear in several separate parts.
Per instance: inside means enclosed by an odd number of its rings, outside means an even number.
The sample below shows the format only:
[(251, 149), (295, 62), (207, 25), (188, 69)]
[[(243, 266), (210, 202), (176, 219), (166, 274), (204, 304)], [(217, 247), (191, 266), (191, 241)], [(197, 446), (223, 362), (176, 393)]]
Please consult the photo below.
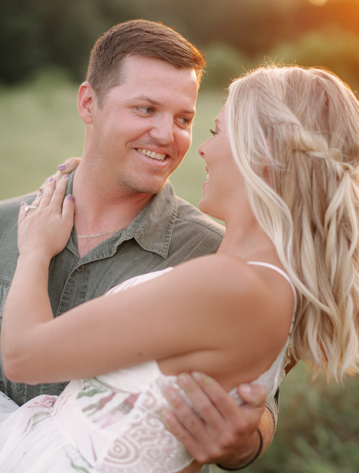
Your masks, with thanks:
[(206, 372), (228, 391), (259, 377), (270, 395), (289, 343), (329, 376), (357, 370), (357, 99), (323, 70), (259, 68), (231, 84), (213, 135), (199, 149), (200, 209), (226, 223), (218, 253), (56, 319), (47, 271), (72, 228), (66, 179), (22, 206), (4, 370), (33, 384), (75, 381), (2, 424), (1, 472), (197, 472), (161, 421), (174, 375)]

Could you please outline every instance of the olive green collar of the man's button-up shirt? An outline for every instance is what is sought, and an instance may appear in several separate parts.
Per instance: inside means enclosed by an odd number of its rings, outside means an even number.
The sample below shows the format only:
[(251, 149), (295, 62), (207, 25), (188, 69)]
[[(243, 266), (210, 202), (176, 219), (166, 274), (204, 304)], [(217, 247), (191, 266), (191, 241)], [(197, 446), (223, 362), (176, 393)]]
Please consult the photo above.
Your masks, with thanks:
[[(75, 172), (68, 176), (66, 195), (72, 193), (74, 174)], [(127, 228), (118, 235), (110, 236), (105, 242), (111, 242), (111, 246), (116, 251), (117, 246), (123, 241), (134, 238), (138, 245), (145, 250), (157, 253), (162, 258), (167, 258), (177, 211), (176, 194), (170, 181), (167, 181), (162, 191), (155, 194), (152, 201), (132, 220)], [(75, 250), (78, 254), (77, 245), (74, 245), (74, 241), (77, 240), (75, 228), (73, 228), (72, 233), (72, 242), (70, 238), (67, 246), (72, 252)]]

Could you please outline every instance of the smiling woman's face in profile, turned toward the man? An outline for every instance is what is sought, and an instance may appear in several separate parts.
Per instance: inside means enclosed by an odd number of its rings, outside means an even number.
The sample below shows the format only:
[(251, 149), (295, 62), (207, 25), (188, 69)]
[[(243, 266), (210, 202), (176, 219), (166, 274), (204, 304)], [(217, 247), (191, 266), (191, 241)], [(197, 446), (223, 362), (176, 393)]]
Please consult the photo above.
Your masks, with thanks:
[(200, 156), (205, 159), (207, 171), (199, 208), (221, 220), (226, 220), (228, 210), (235, 210), (233, 207), (240, 205), (244, 192), (244, 179), (231, 151), (225, 106), (215, 119), (215, 131), (211, 130), (213, 136), (198, 149)]

